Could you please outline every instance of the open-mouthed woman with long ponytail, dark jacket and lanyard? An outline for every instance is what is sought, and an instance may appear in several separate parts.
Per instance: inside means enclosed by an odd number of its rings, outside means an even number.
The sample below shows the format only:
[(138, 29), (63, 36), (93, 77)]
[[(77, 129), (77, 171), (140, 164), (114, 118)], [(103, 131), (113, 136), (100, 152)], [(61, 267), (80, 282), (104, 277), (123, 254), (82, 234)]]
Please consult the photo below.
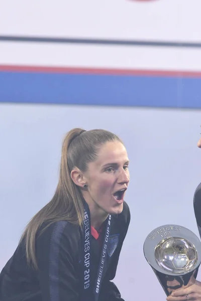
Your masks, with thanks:
[(117, 135), (67, 133), (56, 192), (3, 268), (1, 301), (123, 300), (111, 280), (130, 223), (128, 165)]

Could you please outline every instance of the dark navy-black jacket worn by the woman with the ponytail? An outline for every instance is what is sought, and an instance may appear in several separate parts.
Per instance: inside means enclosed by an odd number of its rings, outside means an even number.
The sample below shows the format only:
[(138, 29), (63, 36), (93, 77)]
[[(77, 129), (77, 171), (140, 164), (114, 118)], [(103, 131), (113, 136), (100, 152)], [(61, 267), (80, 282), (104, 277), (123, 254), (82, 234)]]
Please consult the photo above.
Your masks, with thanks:
[[(115, 239), (112, 239), (109, 244), (109, 264), (103, 275), (99, 301), (124, 301), (111, 280), (115, 277), (122, 244), (130, 223), (130, 210), (126, 202), (122, 213), (112, 219), (110, 238)], [(93, 280), (95, 280), (101, 252), (99, 242), (91, 238), (91, 279)], [(51, 224), (37, 237), (36, 257), (38, 270), (28, 267), (25, 244), (23, 241), (19, 244), (0, 274), (0, 300), (79, 301), (80, 228), (66, 221)], [(92, 283), (92, 287), (94, 284)]]

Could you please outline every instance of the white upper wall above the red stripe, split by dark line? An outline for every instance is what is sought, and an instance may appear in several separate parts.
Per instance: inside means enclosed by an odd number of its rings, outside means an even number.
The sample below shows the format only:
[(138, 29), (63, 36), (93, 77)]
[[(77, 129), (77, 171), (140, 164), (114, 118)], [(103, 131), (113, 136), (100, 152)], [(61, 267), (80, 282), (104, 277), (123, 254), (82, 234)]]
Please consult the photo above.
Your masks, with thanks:
[[(0, 36), (200, 43), (199, 0), (8, 0)], [(1, 65), (200, 71), (200, 48), (0, 42)]]

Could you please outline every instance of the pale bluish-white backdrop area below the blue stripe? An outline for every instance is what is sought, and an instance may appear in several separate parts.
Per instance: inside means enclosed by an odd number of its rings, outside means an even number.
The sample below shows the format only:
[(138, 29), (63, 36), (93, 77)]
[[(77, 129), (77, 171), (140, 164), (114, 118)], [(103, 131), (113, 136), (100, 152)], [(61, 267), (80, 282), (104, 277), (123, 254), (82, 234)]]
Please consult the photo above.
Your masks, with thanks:
[(131, 161), (126, 201), (132, 219), (115, 282), (126, 301), (165, 300), (143, 243), (168, 223), (198, 235), (192, 199), (201, 181), (200, 120), (198, 110), (1, 104), (0, 269), (28, 220), (54, 193), (65, 132), (106, 128), (125, 141)]

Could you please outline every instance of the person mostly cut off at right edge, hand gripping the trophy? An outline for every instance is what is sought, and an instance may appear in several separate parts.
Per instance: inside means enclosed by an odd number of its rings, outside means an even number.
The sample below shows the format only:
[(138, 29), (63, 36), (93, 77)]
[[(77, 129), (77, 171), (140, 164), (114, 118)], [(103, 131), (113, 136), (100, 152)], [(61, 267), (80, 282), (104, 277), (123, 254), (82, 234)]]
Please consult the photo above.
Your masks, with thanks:
[[(197, 142), (197, 146), (199, 148), (201, 148), (201, 138)], [(199, 186), (200, 186), (200, 184), (199, 184)], [(201, 192), (201, 190), (200, 190), (200, 192)], [(199, 192), (199, 194), (200, 194), (200, 192)], [(200, 198), (200, 196), (199, 196), (199, 198)], [(194, 203), (194, 213), (195, 213), (195, 218), (197, 221), (197, 226), (198, 226), (199, 232), (201, 229), (201, 221), (200, 221), (201, 210), (200, 209), (201, 209), (200, 204)], [(192, 285), (189, 285), (186, 287), (182, 286), (181, 288), (175, 289), (171, 293), (171, 295), (166, 298), (167, 301), (184, 301), (184, 300), (200, 301), (201, 300), (201, 282), (197, 281), (197, 280), (195, 280), (193, 282), (194, 282), (194, 284), (192, 284)]]

